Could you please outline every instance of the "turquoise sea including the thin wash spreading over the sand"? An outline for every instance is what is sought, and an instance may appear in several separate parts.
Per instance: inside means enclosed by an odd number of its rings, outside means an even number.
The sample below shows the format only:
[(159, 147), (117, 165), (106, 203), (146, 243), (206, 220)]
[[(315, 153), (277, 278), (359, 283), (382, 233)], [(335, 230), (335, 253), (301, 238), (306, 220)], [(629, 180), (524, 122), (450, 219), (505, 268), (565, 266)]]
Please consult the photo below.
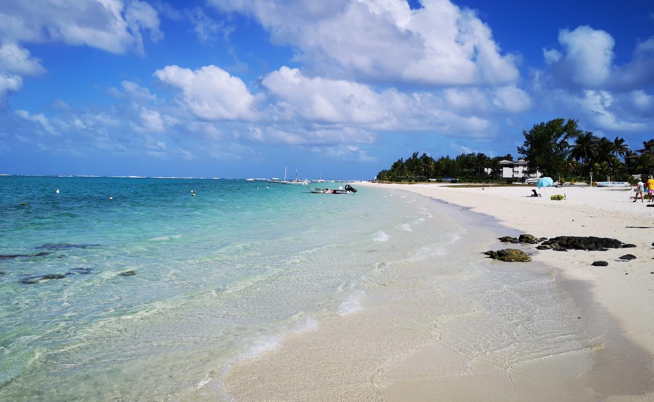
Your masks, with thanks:
[(585, 380), (610, 320), (485, 218), (311, 188), (0, 176), (0, 401), (375, 400), (421, 348), (492, 400)]

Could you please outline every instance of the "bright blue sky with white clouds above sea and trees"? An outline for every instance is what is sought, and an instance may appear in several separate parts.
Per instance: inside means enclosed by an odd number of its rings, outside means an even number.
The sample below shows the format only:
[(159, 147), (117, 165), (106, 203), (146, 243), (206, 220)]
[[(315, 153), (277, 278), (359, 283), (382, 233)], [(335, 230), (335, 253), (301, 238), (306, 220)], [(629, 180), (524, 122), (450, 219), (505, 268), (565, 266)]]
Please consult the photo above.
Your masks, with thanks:
[(0, 0), (0, 173), (370, 179), (654, 137), (654, 2)]

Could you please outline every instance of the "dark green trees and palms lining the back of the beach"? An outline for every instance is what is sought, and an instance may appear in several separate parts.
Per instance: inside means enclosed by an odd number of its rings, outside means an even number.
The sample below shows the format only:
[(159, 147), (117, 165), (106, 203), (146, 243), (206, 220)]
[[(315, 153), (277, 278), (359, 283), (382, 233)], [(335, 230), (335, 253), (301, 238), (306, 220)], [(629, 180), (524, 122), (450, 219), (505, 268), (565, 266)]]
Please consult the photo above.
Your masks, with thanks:
[[(534, 124), (524, 130), (525, 141), (517, 152), (526, 159), (529, 173), (543, 176), (585, 178), (592, 171), (595, 176), (610, 175), (613, 180), (630, 181), (632, 174), (648, 174), (654, 169), (654, 156), (644, 149), (630, 150), (625, 139), (597, 137), (582, 131), (577, 120), (556, 118)], [(500, 178), (499, 162), (513, 161), (511, 154), (490, 158), (482, 153), (463, 153), (455, 158), (432, 156), (414, 152), (400, 158), (377, 174), (378, 180), (415, 181), (428, 178), (455, 177), (466, 181)]]

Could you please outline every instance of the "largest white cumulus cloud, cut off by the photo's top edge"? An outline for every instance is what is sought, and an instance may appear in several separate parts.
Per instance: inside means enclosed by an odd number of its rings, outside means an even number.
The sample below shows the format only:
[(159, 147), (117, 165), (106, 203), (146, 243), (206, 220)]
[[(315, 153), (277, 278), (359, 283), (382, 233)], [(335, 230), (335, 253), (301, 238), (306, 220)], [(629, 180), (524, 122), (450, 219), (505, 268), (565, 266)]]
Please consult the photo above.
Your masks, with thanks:
[(316, 71), (370, 80), (434, 85), (510, 84), (515, 57), (502, 54), (488, 25), (449, 0), (284, 1), (211, 0), (243, 12), (271, 32), (275, 43), (296, 46)]

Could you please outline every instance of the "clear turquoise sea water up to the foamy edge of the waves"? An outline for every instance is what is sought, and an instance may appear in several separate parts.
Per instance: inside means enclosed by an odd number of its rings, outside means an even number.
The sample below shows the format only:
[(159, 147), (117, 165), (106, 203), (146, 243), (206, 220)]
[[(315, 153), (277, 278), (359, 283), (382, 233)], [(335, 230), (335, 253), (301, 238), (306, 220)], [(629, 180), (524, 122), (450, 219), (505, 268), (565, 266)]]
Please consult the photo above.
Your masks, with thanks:
[(0, 400), (174, 399), (454, 230), (422, 197), (310, 188), (1, 176)]

